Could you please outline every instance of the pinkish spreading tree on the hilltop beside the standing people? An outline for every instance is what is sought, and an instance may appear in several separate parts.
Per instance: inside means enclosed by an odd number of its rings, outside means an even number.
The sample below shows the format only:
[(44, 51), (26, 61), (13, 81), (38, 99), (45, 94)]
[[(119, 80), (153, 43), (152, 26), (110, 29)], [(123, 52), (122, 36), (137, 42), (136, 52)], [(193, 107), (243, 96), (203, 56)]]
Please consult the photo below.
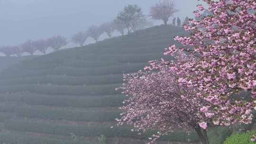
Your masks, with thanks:
[(169, 18), (177, 11), (173, 1), (161, 0), (150, 8), (150, 16), (155, 20), (163, 20), (167, 25)]

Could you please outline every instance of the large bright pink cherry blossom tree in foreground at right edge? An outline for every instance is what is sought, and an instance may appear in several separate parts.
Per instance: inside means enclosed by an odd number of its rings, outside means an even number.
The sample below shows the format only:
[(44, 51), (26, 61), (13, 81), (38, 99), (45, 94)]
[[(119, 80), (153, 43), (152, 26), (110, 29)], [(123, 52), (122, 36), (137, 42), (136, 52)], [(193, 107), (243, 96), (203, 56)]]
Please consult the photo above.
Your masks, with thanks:
[[(256, 9), (256, 1), (203, 1), (212, 15), (184, 25), (190, 36), (174, 38), (183, 46), (167, 49), (165, 54), (176, 59), (168, 65), (179, 75), (189, 73), (178, 82), (197, 88), (196, 95), (210, 103), (204, 111), (213, 114), (215, 124), (249, 124), (256, 109), (256, 15), (250, 12)], [(205, 8), (198, 8), (194, 13), (200, 17)], [(236, 95), (242, 91), (250, 92), (250, 97)]]

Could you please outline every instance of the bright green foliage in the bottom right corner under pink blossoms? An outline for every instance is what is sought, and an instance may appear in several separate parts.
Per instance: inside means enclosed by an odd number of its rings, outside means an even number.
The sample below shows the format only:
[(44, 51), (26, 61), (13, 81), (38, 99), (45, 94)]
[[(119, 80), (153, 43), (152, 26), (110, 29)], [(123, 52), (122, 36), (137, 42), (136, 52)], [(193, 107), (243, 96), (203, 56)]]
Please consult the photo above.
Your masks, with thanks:
[(226, 139), (224, 144), (256, 144), (256, 142), (251, 141), (252, 135), (256, 135), (256, 131), (242, 134), (232, 134)]

